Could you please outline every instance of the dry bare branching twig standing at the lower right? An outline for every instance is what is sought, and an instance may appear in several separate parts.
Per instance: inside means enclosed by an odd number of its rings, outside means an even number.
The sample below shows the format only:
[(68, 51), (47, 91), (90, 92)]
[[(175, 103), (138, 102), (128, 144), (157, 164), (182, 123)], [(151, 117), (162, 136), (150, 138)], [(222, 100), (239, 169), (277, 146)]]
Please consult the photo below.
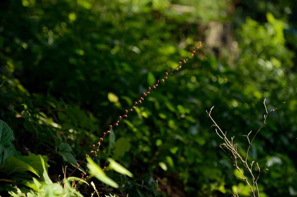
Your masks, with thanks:
[[(268, 112), (268, 111), (267, 111), (267, 108), (266, 108), (265, 101), (266, 101), (266, 99), (265, 99), (264, 102), (263, 102), (264, 107), (265, 107), (265, 110), (266, 110), (266, 114), (264, 115), (264, 121), (263, 121), (263, 124), (260, 126), (260, 128), (257, 130), (257, 132), (255, 133), (255, 135), (252, 137), (252, 140), (249, 139), (249, 135), (252, 133), (252, 131), (250, 131), (248, 135), (243, 135), (244, 137), (247, 137), (247, 140), (248, 140), (248, 143), (249, 143), (248, 148), (247, 148), (247, 153), (246, 153), (245, 157), (242, 157), (242, 156), (239, 154), (239, 152), (238, 152), (238, 150), (237, 150), (237, 146), (238, 146), (238, 144), (237, 144), (237, 143), (233, 144), (234, 136), (231, 137), (230, 140), (228, 140), (228, 138), (227, 138), (227, 132), (224, 133), (224, 132), (222, 131), (222, 129), (221, 129), (221, 128), (217, 125), (217, 123), (214, 121), (214, 119), (211, 117), (211, 111), (213, 110), (214, 106), (211, 107), (211, 109), (210, 109), (209, 112), (206, 111), (207, 114), (208, 114), (208, 116), (209, 116), (209, 118), (210, 118), (211, 121), (214, 123), (212, 126), (215, 126), (215, 127), (216, 127), (215, 130), (216, 130), (216, 132), (217, 132), (217, 135), (224, 141), (224, 143), (220, 144), (220, 146), (224, 146), (225, 148), (227, 148), (227, 149), (231, 152), (231, 154), (232, 154), (232, 156), (233, 156), (233, 158), (234, 158), (234, 160), (235, 160), (235, 164), (234, 164), (234, 166), (235, 166), (235, 168), (239, 171), (239, 173), (240, 173), (241, 176), (242, 176), (242, 177), (239, 177), (239, 176), (238, 176), (237, 178), (239, 178), (239, 179), (241, 179), (241, 180), (243, 180), (243, 181), (245, 181), (245, 182), (247, 183), (247, 185), (249, 186), (250, 190), (252, 191), (252, 194), (253, 194), (254, 197), (259, 197), (259, 196), (260, 196), (260, 195), (259, 195), (259, 188), (258, 188), (257, 181), (258, 181), (258, 179), (259, 179), (260, 174), (263, 173), (264, 170), (268, 170), (269, 165), (268, 165), (265, 169), (263, 169), (263, 170), (261, 171), (261, 170), (260, 170), (260, 167), (259, 167), (259, 164), (256, 162), (256, 164), (257, 164), (257, 168), (258, 168), (258, 170), (259, 170), (259, 173), (258, 173), (257, 175), (254, 175), (254, 173), (253, 173), (253, 171), (252, 171), (252, 166), (253, 166), (253, 164), (254, 164), (255, 161), (252, 161), (252, 163), (250, 163), (250, 164), (247, 162), (247, 157), (248, 157), (249, 149), (251, 148), (252, 143), (253, 143), (253, 141), (254, 141), (256, 135), (259, 133), (259, 131), (262, 129), (262, 127), (266, 124), (266, 118), (267, 118), (268, 114), (271, 113), (272, 111), (274, 111), (274, 110), (277, 109), (277, 108), (275, 108), (275, 109), (272, 109), (272, 110), (270, 110), (270, 111)], [(219, 130), (219, 131), (218, 131), (218, 130)], [(247, 176), (244, 176), (244, 172), (243, 172), (242, 169), (239, 168), (239, 166), (238, 166), (238, 162), (241, 162), (241, 163), (243, 164), (243, 166), (244, 166), (245, 168), (247, 168), (247, 171), (248, 171), (249, 175), (252, 177), (252, 181), (249, 181), (249, 180), (247, 179)], [(235, 197), (238, 196), (238, 194), (237, 194), (237, 190), (236, 190), (236, 192), (233, 194), (233, 196), (235, 196)]]

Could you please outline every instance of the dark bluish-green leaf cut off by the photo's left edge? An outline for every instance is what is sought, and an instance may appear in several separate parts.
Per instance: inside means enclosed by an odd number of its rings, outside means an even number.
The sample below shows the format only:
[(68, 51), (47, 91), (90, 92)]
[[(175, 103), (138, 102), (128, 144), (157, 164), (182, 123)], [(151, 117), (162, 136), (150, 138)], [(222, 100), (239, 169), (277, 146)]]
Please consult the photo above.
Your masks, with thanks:
[[(12, 141), (15, 139), (12, 129), (7, 123), (0, 120), (0, 164), (6, 158), (3, 157), (3, 152), (7, 151), (7, 148), (12, 146)], [(2, 158), (3, 157), (3, 158)], [(7, 157), (7, 156), (6, 156)]]

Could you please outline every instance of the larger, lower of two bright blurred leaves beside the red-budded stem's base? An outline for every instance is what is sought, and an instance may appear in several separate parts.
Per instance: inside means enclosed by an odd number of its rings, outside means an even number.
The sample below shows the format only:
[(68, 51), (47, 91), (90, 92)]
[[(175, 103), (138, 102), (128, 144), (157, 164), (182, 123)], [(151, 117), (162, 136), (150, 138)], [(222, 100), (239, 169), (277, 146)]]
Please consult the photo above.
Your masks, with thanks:
[(98, 180), (107, 185), (110, 185), (111, 187), (119, 188), (119, 185), (108, 176), (106, 176), (103, 170), (97, 164), (95, 164), (95, 162), (93, 162), (90, 157), (87, 157), (87, 161), (90, 173), (93, 174)]

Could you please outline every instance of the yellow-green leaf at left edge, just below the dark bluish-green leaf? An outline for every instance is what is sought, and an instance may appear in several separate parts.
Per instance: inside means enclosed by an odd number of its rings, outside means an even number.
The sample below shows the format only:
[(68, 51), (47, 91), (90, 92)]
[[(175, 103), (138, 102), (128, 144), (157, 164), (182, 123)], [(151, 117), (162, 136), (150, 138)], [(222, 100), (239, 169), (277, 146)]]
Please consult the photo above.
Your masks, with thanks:
[(36, 172), (34, 168), (32, 168), (28, 163), (14, 156), (8, 157), (0, 166), (0, 172), (3, 172), (7, 175), (22, 171), (31, 171), (37, 176), (39, 176), (38, 172)]

